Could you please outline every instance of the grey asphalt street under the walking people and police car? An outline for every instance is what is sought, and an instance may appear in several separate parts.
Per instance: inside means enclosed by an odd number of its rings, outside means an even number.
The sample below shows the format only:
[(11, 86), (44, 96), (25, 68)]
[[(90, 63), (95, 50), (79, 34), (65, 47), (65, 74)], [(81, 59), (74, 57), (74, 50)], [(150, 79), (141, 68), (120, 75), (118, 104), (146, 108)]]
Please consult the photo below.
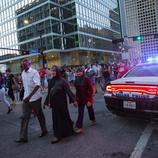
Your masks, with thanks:
[[(29, 142), (16, 144), (18, 138), (21, 104), (7, 115), (7, 108), (0, 104), (0, 158), (158, 158), (157, 123), (121, 118), (105, 107), (103, 94), (95, 96), (96, 125), (89, 126), (87, 110), (84, 117), (84, 133), (51, 144), (51, 111), (44, 110), (49, 134), (38, 138), (39, 124), (31, 117)], [(72, 119), (77, 109), (69, 106)]]

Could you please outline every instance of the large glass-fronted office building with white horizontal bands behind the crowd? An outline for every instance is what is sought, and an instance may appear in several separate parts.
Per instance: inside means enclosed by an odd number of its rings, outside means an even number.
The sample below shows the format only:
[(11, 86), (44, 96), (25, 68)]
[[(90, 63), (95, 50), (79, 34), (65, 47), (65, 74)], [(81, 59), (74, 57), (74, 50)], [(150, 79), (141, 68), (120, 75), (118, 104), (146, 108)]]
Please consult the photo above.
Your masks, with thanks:
[(29, 51), (38, 66), (36, 50), (44, 52), (49, 67), (119, 54), (112, 44), (121, 38), (118, 0), (1, 0), (0, 8), (0, 47), (10, 48), (0, 50), (1, 63), (19, 62)]

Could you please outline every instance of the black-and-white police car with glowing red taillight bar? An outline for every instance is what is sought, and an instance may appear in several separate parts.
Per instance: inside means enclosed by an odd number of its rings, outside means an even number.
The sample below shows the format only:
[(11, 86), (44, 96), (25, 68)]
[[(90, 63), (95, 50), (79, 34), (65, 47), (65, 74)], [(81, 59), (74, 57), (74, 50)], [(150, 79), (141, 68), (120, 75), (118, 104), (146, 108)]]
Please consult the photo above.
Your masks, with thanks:
[(140, 64), (106, 86), (107, 108), (126, 116), (158, 117), (158, 63)]

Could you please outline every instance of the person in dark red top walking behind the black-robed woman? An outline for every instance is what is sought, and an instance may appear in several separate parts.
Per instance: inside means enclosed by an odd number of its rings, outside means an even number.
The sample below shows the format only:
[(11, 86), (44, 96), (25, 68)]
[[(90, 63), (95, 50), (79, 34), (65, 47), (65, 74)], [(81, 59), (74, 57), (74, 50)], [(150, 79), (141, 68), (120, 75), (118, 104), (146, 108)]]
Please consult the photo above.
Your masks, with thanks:
[(78, 118), (76, 121), (75, 132), (82, 133), (85, 106), (87, 106), (88, 109), (91, 125), (95, 124), (95, 115), (93, 110), (94, 87), (92, 81), (85, 76), (83, 68), (79, 68), (77, 70), (74, 86), (76, 88), (76, 98), (78, 102)]

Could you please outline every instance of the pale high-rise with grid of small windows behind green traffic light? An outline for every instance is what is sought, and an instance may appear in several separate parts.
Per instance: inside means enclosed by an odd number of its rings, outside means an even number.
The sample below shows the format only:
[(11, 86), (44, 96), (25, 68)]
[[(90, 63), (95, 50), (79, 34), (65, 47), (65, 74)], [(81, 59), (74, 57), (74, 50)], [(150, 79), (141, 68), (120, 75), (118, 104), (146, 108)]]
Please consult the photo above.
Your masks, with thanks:
[(142, 35), (142, 40), (128, 38), (129, 58), (146, 61), (158, 56), (158, 1), (157, 0), (125, 0), (125, 21), (127, 36)]

